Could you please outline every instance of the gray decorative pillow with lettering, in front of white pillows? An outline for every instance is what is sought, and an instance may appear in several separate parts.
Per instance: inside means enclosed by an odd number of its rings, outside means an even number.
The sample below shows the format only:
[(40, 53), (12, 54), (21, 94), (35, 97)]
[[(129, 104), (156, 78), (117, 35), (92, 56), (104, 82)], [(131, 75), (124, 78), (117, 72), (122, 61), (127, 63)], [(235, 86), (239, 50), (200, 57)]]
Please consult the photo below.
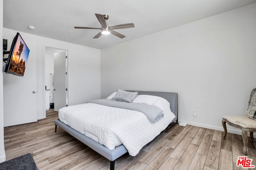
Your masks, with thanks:
[(116, 95), (112, 98), (112, 100), (132, 103), (132, 100), (134, 100), (137, 95), (138, 92), (126, 92), (124, 90), (118, 89)]

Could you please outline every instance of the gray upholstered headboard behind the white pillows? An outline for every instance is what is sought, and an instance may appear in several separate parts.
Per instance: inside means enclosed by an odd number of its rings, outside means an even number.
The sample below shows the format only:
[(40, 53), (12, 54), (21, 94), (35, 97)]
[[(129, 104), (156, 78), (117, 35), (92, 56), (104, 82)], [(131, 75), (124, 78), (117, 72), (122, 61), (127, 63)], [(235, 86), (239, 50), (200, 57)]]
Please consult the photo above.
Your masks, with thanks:
[(176, 116), (176, 119), (173, 120), (173, 122), (176, 120), (176, 123), (178, 123), (178, 93), (174, 92), (149, 92), (149, 91), (136, 91), (136, 90), (126, 90), (130, 92), (138, 92), (138, 95), (140, 94), (147, 94), (147, 95), (153, 95), (153, 96), (159, 96), (164, 99), (166, 99), (170, 103), (170, 108), (172, 113)]

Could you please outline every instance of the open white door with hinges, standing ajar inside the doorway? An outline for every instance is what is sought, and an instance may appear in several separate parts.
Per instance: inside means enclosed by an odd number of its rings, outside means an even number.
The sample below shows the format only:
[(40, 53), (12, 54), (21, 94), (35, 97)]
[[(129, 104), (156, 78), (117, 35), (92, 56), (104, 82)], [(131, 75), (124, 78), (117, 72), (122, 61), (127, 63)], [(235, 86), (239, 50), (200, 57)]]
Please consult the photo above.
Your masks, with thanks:
[(54, 111), (66, 107), (66, 51), (54, 53)]

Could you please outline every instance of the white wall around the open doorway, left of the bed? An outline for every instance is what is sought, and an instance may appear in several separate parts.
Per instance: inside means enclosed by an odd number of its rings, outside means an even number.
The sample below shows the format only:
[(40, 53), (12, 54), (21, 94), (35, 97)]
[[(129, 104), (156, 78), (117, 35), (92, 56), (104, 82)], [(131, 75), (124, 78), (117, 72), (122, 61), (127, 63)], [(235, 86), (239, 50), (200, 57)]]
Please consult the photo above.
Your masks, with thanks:
[[(17, 32), (3, 28), (5, 34)], [(44, 48), (55, 47), (68, 50), (68, 96), (69, 105), (81, 104), (90, 99), (100, 98), (100, 50), (55, 39), (20, 32), (24, 41), (36, 43), (37, 115), (45, 117), (44, 109)], [(26, 39), (26, 40), (25, 40)], [(8, 116), (8, 115), (5, 115)]]

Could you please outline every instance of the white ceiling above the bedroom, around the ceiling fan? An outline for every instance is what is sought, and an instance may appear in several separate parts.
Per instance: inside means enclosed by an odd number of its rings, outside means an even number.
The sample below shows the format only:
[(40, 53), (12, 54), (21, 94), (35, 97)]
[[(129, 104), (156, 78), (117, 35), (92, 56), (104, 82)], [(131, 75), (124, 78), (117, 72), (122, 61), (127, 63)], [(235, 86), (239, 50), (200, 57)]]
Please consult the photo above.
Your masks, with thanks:
[[(103, 49), (164, 29), (214, 16), (256, 0), (4, 0), (4, 28), (14, 29), (96, 49)], [(93, 37), (98, 29), (96, 14), (108, 14), (108, 25), (134, 23), (117, 29), (126, 35)], [(32, 25), (35, 30), (28, 29)], [(70, 33), (72, 31), (72, 33)]]

